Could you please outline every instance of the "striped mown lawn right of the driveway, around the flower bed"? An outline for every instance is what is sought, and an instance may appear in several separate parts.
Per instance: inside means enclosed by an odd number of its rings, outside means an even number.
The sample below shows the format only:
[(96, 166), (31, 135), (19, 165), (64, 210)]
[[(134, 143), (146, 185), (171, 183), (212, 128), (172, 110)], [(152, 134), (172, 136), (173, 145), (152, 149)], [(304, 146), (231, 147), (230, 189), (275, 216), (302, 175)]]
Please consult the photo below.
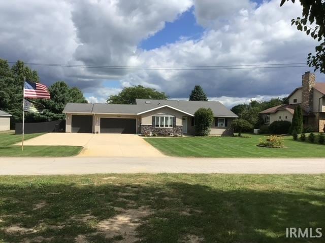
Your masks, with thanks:
[(181, 157), (325, 157), (325, 146), (283, 137), (286, 148), (257, 147), (262, 135), (238, 137), (145, 138), (152, 146), (170, 156)]

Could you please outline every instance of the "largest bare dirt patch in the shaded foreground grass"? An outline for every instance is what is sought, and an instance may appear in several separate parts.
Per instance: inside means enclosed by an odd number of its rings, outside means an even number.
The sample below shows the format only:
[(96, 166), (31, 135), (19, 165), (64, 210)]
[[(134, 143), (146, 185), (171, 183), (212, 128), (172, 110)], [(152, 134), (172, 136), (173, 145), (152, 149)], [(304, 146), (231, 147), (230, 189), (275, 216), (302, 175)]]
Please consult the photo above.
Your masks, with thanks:
[(131, 243), (138, 240), (136, 228), (140, 225), (141, 219), (149, 216), (152, 212), (147, 207), (124, 210), (113, 218), (102, 220), (97, 227), (106, 238), (122, 235), (120, 243)]

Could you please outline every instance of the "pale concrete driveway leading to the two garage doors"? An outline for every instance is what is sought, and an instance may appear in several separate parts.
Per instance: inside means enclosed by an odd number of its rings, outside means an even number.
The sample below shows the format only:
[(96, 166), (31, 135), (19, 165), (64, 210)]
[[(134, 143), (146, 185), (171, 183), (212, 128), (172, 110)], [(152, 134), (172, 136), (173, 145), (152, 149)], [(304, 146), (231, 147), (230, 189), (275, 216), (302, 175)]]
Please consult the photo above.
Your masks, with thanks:
[(26, 140), (24, 145), (82, 146), (84, 148), (78, 155), (80, 157), (165, 156), (135, 134), (47, 133)]

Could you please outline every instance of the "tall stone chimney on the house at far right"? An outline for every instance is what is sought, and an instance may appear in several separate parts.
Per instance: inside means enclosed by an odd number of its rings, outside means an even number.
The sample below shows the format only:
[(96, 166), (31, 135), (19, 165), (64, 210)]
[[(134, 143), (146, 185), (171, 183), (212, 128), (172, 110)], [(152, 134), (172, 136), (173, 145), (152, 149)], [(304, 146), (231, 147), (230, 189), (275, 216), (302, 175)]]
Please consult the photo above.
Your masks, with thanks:
[(315, 85), (315, 73), (305, 72), (302, 76), (301, 108), (307, 112), (311, 112), (313, 109), (312, 88)]

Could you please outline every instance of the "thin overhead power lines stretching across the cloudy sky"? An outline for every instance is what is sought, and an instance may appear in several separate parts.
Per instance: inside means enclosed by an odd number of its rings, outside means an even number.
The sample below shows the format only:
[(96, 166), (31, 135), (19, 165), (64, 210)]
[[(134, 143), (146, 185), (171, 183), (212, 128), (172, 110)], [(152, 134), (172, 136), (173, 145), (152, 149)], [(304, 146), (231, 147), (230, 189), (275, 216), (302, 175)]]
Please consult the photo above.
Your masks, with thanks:
[[(15, 62), (8, 62), (14, 64)], [(241, 65), (215, 65), (215, 66), (93, 66), (76, 64), (55, 63), (28, 63), (27, 65), (73, 67), (73, 68), (96, 68), (96, 69), (125, 69), (125, 70), (229, 70), (229, 69), (255, 69), (255, 68), (290, 68), (306, 67), (306, 63), (273, 63), (273, 64), (241, 64)], [(304, 64), (304, 65), (302, 65)]]

